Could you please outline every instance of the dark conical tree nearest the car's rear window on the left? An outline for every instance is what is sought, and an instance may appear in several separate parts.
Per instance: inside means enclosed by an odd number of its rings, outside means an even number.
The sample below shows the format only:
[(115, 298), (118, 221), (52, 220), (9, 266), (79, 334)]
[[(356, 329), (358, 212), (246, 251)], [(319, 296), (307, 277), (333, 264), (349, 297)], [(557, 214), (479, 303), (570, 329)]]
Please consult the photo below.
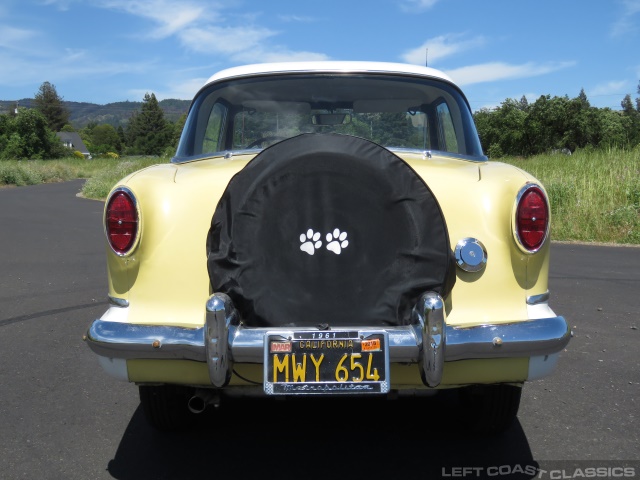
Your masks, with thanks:
[(171, 125), (156, 96), (145, 94), (140, 112), (134, 112), (127, 126), (128, 152), (136, 155), (161, 155), (171, 144)]

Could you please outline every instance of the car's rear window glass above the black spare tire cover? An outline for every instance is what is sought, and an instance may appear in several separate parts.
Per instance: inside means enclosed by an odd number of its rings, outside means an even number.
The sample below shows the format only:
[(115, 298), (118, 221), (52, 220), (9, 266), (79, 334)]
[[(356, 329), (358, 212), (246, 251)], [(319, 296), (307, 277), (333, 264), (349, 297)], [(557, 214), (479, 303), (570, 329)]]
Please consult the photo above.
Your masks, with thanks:
[(229, 80), (202, 90), (174, 161), (260, 150), (313, 132), (354, 135), (389, 149), (484, 158), (468, 105), (446, 82), (288, 74)]

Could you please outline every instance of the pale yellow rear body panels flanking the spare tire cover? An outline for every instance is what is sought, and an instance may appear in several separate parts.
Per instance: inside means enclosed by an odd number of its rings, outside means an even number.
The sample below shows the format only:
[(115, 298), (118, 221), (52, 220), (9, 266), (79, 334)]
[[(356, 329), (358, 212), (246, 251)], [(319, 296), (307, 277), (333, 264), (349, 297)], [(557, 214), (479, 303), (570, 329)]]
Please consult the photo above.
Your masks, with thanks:
[[(130, 255), (119, 256), (107, 247), (109, 294), (129, 302), (135, 323), (204, 324), (203, 305), (211, 293), (205, 249), (211, 217), (229, 180), (251, 158), (159, 165), (116, 186), (126, 186), (139, 199), (143, 234)], [(526, 297), (547, 291), (548, 255), (522, 253), (511, 218), (517, 192), (535, 179), (500, 163), (426, 160), (417, 154), (404, 159), (439, 199), (451, 248), (462, 238), (475, 237), (489, 252), (483, 271), (457, 269), (447, 322), (471, 326), (527, 318)]]

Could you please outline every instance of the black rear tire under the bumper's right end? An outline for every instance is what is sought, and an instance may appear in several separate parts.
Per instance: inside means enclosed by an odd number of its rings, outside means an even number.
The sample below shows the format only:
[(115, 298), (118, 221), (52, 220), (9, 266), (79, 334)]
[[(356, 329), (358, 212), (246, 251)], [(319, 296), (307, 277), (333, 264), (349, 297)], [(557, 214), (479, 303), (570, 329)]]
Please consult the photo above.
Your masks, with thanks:
[(518, 415), (521, 395), (522, 387), (505, 384), (460, 389), (465, 426), (481, 435), (504, 432)]

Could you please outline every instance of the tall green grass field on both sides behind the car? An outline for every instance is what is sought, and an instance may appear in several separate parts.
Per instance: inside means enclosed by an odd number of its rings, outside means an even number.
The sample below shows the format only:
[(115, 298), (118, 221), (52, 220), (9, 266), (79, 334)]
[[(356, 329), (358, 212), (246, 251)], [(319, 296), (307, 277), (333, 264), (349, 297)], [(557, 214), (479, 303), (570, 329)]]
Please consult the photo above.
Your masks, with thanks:
[[(125, 175), (167, 161), (158, 157), (3, 160), (0, 187), (86, 178), (83, 195), (104, 199)], [(543, 183), (551, 203), (553, 240), (640, 245), (640, 148), (500, 161)]]

